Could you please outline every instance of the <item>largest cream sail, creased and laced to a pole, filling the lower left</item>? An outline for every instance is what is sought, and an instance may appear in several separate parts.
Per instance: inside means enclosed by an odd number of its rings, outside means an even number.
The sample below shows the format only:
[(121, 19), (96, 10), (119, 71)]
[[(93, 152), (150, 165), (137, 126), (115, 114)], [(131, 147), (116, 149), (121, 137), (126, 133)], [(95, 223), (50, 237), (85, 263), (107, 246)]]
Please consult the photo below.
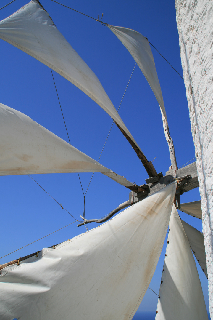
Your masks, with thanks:
[(0, 319), (130, 320), (148, 288), (168, 228), (176, 182), (113, 219), (5, 267)]

